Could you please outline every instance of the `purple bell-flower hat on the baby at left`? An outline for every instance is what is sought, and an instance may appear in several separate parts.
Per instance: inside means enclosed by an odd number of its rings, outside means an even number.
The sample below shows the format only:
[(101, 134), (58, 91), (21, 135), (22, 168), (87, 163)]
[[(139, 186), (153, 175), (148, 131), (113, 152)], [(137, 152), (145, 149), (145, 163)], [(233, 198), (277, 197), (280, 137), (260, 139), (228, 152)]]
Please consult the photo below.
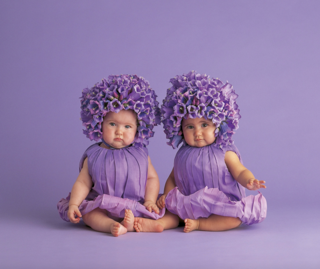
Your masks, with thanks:
[(159, 102), (150, 84), (137, 75), (111, 75), (103, 78), (91, 89), (84, 88), (81, 98), (81, 120), (83, 133), (90, 140), (102, 138), (103, 117), (109, 111), (118, 113), (121, 109), (132, 109), (138, 115), (138, 130), (133, 146), (148, 145), (153, 137), (153, 127), (160, 124)]

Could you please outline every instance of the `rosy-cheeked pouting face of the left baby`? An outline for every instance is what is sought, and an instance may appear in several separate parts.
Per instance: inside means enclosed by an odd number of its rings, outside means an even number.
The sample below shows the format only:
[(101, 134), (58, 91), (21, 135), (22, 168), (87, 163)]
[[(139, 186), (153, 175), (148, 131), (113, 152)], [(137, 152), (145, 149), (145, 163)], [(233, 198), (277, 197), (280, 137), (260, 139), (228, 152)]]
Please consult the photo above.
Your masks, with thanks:
[(102, 122), (102, 137), (110, 146), (123, 148), (132, 144), (137, 128), (137, 113), (133, 110), (110, 111)]

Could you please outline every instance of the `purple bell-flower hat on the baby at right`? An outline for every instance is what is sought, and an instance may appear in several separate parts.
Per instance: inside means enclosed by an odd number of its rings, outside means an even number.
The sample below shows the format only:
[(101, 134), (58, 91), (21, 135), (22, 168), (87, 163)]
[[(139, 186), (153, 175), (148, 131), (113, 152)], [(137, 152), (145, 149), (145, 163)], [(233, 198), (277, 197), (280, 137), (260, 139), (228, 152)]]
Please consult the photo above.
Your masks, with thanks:
[(238, 95), (230, 83), (223, 84), (210, 79), (206, 74), (190, 71), (170, 79), (172, 87), (161, 106), (161, 121), (164, 124), (167, 144), (177, 148), (181, 142), (186, 145), (181, 129), (182, 118), (212, 119), (216, 124), (215, 145), (222, 148), (233, 144), (233, 130), (238, 129), (241, 118), (236, 99)]

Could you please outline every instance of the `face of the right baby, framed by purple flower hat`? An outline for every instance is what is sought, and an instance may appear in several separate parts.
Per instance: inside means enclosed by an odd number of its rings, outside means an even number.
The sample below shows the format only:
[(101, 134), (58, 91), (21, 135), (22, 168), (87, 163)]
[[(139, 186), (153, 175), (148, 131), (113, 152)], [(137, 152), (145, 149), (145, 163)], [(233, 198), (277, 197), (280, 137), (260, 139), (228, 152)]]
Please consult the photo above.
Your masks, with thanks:
[(182, 131), (187, 144), (194, 147), (203, 147), (212, 144), (216, 138), (214, 131), (215, 123), (206, 120), (204, 117), (182, 120)]

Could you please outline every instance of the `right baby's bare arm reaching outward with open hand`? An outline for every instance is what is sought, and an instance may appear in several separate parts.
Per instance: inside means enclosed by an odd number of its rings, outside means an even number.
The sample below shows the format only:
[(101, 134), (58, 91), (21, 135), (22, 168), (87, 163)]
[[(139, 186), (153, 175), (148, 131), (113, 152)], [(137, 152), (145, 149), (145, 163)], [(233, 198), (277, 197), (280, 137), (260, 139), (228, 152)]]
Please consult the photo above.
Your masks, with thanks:
[(256, 179), (251, 171), (243, 166), (237, 154), (233, 151), (226, 152), (224, 161), (234, 179), (248, 190), (255, 191), (260, 188), (267, 188), (263, 185), (266, 182), (264, 180), (259, 181)]

